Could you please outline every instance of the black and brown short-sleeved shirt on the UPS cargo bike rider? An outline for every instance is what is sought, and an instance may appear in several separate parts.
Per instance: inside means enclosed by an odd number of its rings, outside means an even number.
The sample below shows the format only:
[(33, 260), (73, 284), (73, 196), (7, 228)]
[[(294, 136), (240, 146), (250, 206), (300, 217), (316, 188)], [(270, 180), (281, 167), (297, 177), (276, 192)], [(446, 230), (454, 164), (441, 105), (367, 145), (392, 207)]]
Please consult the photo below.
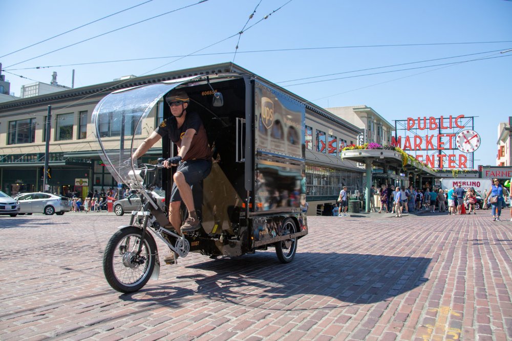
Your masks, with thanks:
[(183, 136), (185, 135), (185, 131), (189, 128), (196, 130), (196, 134), (190, 143), (190, 148), (188, 149), (183, 161), (188, 160), (211, 160), (211, 149), (208, 146), (208, 137), (206, 135), (206, 130), (204, 129), (203, 122), (199, 117), (197, 112), (191, 111), (185, 114), (185, 122), (183, 125), (178, 128), (178, 122), (176, 118), (169, 117), (165, 119), (160, 125), (155, 129), (155, 131), (161, 137), (168, 137), (170, 141), (173, 141), (178, 147), (181, 148), (181, 140), (183, 140)]

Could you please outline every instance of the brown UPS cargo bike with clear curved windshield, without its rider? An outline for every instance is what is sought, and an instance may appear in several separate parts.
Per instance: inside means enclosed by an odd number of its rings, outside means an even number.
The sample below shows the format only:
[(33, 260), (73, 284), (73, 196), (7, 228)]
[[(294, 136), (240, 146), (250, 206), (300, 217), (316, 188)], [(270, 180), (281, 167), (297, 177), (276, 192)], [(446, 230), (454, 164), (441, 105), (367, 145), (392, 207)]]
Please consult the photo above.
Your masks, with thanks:
[[(190, 98), (187, 111), (199, 113), (213, 154), (210, 174), (192, 188), (201, 228), (181, 235), (168, 219), (175, 168), (162, 166), (176, 146), (162, 139), (153, 160), (131, 158), (170, 116), (162, 99), (177, 90)], [(189, 252), (237, 257), (274, 247), (281, 262), (293, 260), (297, 240), (308, 233), (305, 105), (297, 99), (250, 74), (200, 75), (117, 90), (97, 104), (92, 123), (106, 168), (140, 198), (130, 223), (105, 248), (103, 271), (112, 288), (134, 292), (158, 278), (155, 237), (181, 258)], [(186, 214), (182, 206), (182, 218)]]

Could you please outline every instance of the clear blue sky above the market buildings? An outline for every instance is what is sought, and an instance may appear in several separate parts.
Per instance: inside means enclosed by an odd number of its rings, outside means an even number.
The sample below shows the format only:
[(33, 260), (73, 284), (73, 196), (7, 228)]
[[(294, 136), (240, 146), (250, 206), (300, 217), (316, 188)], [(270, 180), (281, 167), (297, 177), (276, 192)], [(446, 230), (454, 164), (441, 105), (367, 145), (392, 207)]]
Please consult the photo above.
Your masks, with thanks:
[[(0, 56), (145, 1), (3, 1)], [(152, 0), (0, 57), (11, 92), (19, 95), (20, 86), (33, 80), (49, 83), (54, 71), (59, 84), (71, 86), (74, 69), (75, 87), (79, 87), (124, 75), (141, 76), (234, 58), (242, 67), (323, 107), (364, 104), (390, 123), (408, 117), (476, 116), (475, 130), (481, 135), (482, 145), (475, 153), (475, 165), (496, 164), (497, 126), (512, 116), (512, 51), (500, 54), (512, 49), (512, 1), (208, 0), (19, 63), (198, 2)], [(253, 18), (248, 20), (255, 8)], [(246, 22), (234, 56), (237, 33)], [(480, 43), (439, 45), (463, 42)], [(393, 44), (436, 45), (375, 47)], [(203, 48), (199, 54), (213, 55), (60, 66), (189, 55)], [(285, 49), (308, 50), (253, 52)], [(353, 72), (470, 54), (475, 55)], [(360, 76), (488, 57), (500, 58)], [(52, 67), (33, 69), (36, 66)], [(345, 72), (350, 73), (290, 82)], [(358, 77), (325, 81), (348, 76)], [(319, 80), (322, 82), (311, 83)], [(308, 84), (293, 85), (303, 82)]]

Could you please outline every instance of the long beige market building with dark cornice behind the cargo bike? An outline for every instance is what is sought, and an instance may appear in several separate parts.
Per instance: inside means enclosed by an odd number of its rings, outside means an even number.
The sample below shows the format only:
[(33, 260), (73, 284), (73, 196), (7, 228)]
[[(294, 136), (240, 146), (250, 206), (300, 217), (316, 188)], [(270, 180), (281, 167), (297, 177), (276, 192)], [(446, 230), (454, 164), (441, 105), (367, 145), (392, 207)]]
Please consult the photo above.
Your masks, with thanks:
[[(71, 191), (84, 197), (89, 191), (117, 188), (118, 184), (98, 156), (99, 145), (93, 133), (95, 127), (91, 124), (96, 104), (107, 94), (127, 87), (224, 72), (253, 74), (236, 64), (222, 63), (0, 103), (2, 191), (11, 196), (42, 191), (44, 176), (47, 176), (46, 190), (62, 195)], [(323, 202), (335, 201), (342, 186), (348, 186), (352, 193), (362, 192), (364, 169), (340, 158), (343, 147), (356, 142), (361, 129), (285, 89), (280, 90), (306, 105), (306, 178), (310, 211), (314, 212)], [(150, 115), (154, 127), (163, 119), (162, 105), (162, 102), (158, 103)], [(49, 172), (44, 174), (49, 107)], [(118, 137), (121, 133), (120, 126), (109, 122), (101, 122), (99, 128), (100, 134), (108, 137)], [(130, 126), (124, 129), (130, 129)], [(134, 133), (142, 142), (151, 129)], [(143, 162), (156, 162), (160, 154), (161, 147), (152, 148)]]

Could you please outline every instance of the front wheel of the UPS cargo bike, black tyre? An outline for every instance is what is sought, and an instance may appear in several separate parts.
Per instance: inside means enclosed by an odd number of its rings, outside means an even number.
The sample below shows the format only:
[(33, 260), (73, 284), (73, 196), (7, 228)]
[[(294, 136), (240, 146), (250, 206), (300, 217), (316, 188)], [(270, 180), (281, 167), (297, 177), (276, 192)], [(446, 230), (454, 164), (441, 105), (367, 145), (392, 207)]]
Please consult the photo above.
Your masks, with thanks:
[[(139, 250), (139, 245), (142, 247)], [(103, 254), (103, 272), (110, 286), (120, 292), (140, 290), (150, 280), (155, 268), (157, 246), (155, 239), (142, 230), (128, 226), (117, 231), (109, 240)]]

